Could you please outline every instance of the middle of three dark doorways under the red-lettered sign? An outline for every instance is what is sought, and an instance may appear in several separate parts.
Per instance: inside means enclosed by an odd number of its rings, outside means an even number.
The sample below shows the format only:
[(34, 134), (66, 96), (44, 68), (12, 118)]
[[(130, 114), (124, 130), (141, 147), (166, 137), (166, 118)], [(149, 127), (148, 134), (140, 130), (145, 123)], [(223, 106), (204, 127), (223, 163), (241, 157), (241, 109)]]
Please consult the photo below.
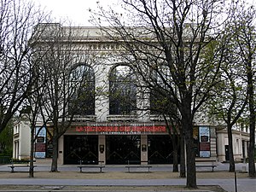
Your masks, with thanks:
[(107, 136), (106, 163), (109, 165), (125, 165), (128, 160), (140, 164), (140, 136)]

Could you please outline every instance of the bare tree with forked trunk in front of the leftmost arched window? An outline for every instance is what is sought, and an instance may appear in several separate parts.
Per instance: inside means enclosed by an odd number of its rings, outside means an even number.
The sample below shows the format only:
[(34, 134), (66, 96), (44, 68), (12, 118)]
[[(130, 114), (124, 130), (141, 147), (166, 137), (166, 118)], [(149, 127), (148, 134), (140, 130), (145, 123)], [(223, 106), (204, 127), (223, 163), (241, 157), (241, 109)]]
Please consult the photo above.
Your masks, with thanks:
[[(41, 42), (35, 46), (39, 55), (40, 73), (44, 73), (44, 98), (42, 111), (47, 124), (53, 128), (53, 156), (51, 172), (58, 172), (58, 141), (67, 131), (76, 114), (94, 113), (94, 75), (88, 47), (78, 43), (79, 37), (87, 34), (78, 28), (46, 23)], [(80, 33), (82, 32), (82, 33)], [(91, 60), (90, 60), (91, 59)]]

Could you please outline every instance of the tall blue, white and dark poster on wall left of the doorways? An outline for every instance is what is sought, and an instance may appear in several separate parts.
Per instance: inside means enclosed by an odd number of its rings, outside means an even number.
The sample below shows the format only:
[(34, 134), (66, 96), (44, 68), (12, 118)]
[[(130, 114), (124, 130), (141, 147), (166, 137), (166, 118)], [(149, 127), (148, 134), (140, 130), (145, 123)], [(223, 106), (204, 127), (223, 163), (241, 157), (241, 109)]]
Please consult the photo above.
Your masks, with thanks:
[(36, 127), (35, 158), (45, 158), (46, 128)]

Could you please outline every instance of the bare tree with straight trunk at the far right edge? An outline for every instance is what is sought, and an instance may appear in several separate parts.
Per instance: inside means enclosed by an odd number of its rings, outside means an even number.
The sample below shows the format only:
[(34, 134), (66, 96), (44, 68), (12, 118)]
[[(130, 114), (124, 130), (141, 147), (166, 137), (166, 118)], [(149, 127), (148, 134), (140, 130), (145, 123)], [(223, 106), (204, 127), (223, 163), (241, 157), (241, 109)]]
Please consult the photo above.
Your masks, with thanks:
[(247, 94), (248, 94), (248, 122), (250, 129), (249, 142), (249, 176), (256, 177), (255, 172), (255, 51), (256, 51), (256, 9), (253, 5), (247, 7), (241, 4), (240, 11), (234, 21), (234, 44), (237, 46), (237, 53), (241, 58), (241, 64), (245, 68)]

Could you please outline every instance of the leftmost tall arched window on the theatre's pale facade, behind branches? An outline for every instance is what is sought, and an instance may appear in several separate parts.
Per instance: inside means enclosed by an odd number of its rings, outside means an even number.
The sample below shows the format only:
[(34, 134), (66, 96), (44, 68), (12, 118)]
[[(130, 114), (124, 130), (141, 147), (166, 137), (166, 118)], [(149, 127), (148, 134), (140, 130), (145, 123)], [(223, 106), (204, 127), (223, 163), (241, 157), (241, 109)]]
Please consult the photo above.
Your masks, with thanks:
[(70, 78), (70, 112), (76, 115), (95, 114), (95, 74), (92, 67), (78, 65), (73, 68)]

